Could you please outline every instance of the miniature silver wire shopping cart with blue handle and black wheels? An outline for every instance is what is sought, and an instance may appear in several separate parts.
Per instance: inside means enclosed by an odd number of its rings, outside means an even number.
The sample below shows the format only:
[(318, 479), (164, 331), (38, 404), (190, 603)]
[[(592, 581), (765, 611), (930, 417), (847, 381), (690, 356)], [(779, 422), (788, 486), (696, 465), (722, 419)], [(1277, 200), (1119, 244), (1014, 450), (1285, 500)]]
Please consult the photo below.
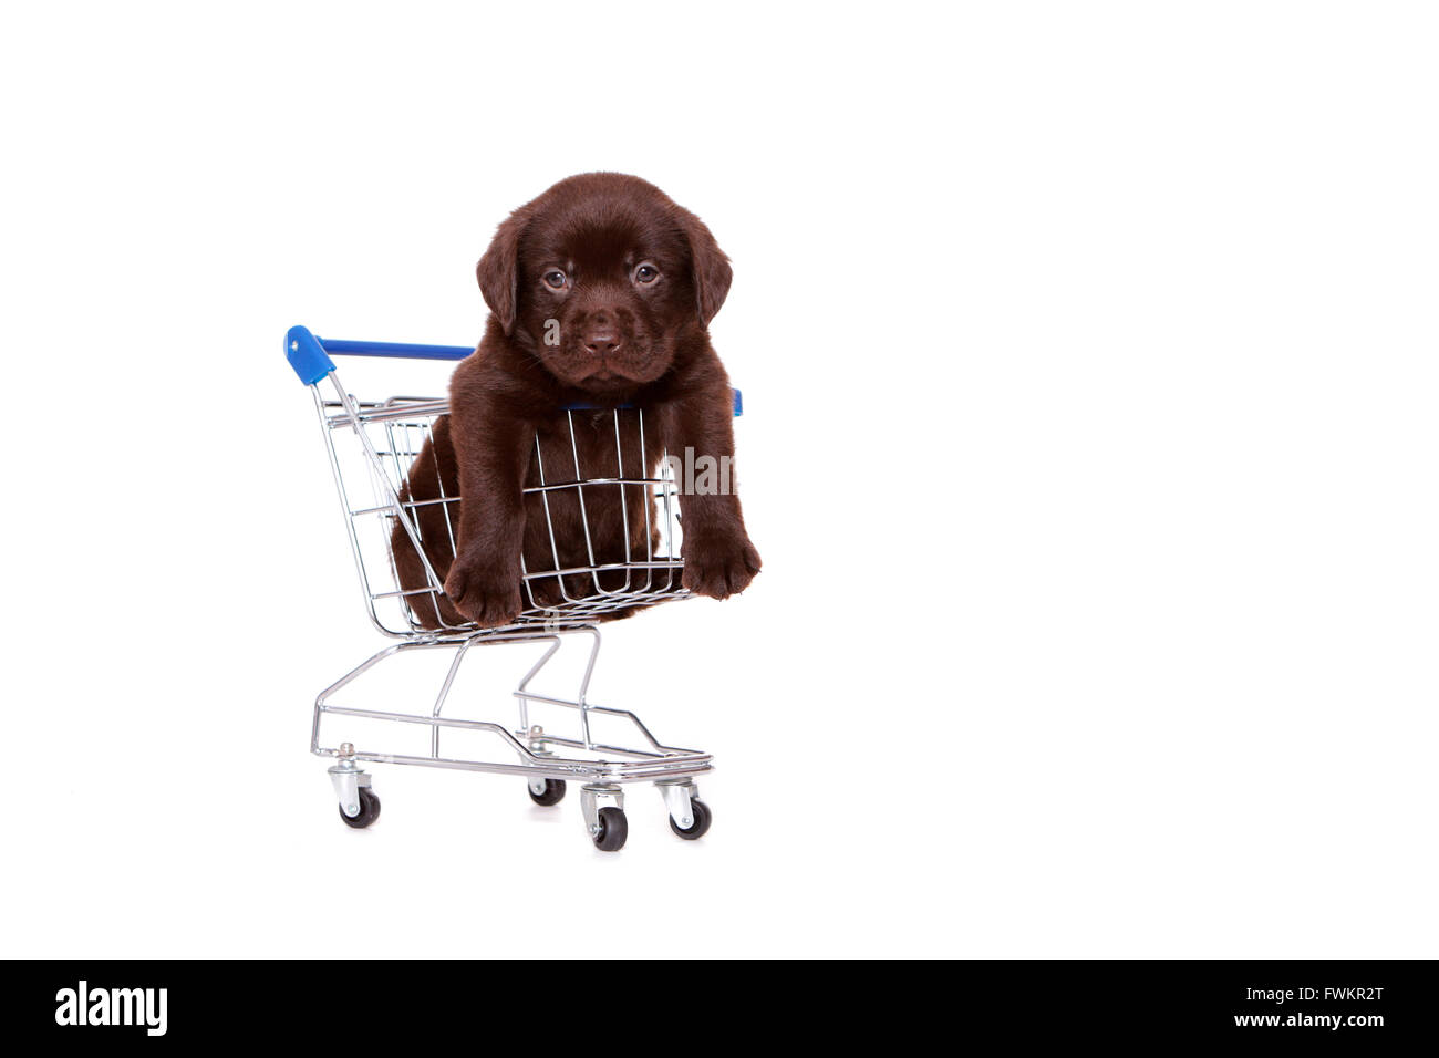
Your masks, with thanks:
[[(629, 832), (625, 818), (625, 785), (650, 782), (659, 787), (669, 810), (671, 829), (681, 838), (699, 838), (709, 829), (709, 809), (698, 799), (695, 776), (711, 770), (709, 754), (665, 746), (633, 713), (602, 708), (586, 698), (600, 651), (600, 633), (596, 628), (599, 619), (620, 609), (649, 607), (688, 597), (688, 592), (681, 586), (684, 561), (679, 559), (682, 533), (678, 485), (668, 453), (655, 469), (636, 466), (633, 456), (626, 466), (623, 452), (616, 451), (619, 472), (597, 478), (586, 476), (580, 449), (574, 442), (577, 415), (590, 417), (591, 428), (596, 416), (613, 416), (619, 449), (620, 416), (633, 416), (626, 428), (633, 430), (637, 420), (643, 452), (642, 409), (564, 409), (568, 417), (570, 449), (574, 452), (573, 464), (555, 466), (553, 459), (544, 459), (537, 438), (538, 482), (525, 488), (525, 492), (538, 494), (538, 510), (544, 511), (548, 523), (551, 501), (558, 491), (573, 489), (583, 514), (586, 498), (594, 495), (593, 489), (619, 489), (625, 518), (643, 518), (646, 530), (653, 530), (645, 533), (643, 551), (630, 554), (626, 544), (625, 561), (596, 561), (594, 547), (589, 540), (590, 524), (583, 521), (590, 564), (561, 570), (558, 551), (555, 553), (555, 570), (564, 576), (551, 571), (548, 580), (561, 586), (558, 599), (553, 597), (553, 593), (547, 597), (534, 590), (545, 573), (525, 571), (522, 594), (527, 609), (511, 625), (482, 629), (472, 623), (435, 620), (440, 609), (443, 574), (436, 573), (439, 563), (432, 559), (437, 553), (436, 548), (453, 559), (459, 497), (446, 495), (442, 485), (437, 497), (420, 499), (407, 492), (406, 485), (426, 442), (433, 442), (436, 420), (446, 415), (448, 403), (429, 397), (360, 400), (344, 389), (330, 357), (344, 354), (463, 360), (472, 351), (468, 347), (450, 345), (322, 341), (304, 327), (292, 327), (285, 335), (285, 354), (291, 367), (315, 399), (366, 607), (374, 626), (386, 636), (399, 641), (325, 688), (315, 700), (309, 749), (317, 756), (331, 757), (335, 761), (330, 769), (330, 777), (340, 800), (340, 818), (354, 828), (368, 826), (378, 818), (380, 799), (370, 786), (370, 774), (360, 767), (363, 761), (374, 761), (524, 776), (528, 780), (530, 797), (537, 805), (557, 805), (564, 797), (566, 783), (577, 780), (581, 783), (580, 803), (584, 823), (594, 845), (606, 852), (622, 848)], [(735, 415), (738, 413), (737, 392)], [(643, 489), (645, 501), (637, 504), (643, 510), (632, 510), (636, 504), (626, 498), (635, 495), (636, 487)], [(436, 508), (442, 517), (436, 517)], [(555, 533), (553, 523), (548, 524), (548, 530), (553, 540)], [(396, 540), (407, 540), (413, 546), (413, 554), (420, 557), (425, 567), (425, 584), (403, 583), (404, 579), (396, 564)], [(450, 613), (453, 615), (453, 610)], [(574, 695), (555, 697), (531, 689), (531, 684), (561, 645), (576, 638), (587, 642), (589, 656)], [(517, 724), (511, 727), (498, 720), (462, 720), (443, 715), (450, 688), (465, 658), (476, 648), (515, 643), (544, 648), (514, 691), (518, 707)], [(340, 691), (380, 662), (412, 651), (453, 654), (433, 707), (426, 702), (427, 711), (380, 711), (332, 701)], [(532, 723), (538, 713), (544, 713), (545, 725)], [(335, 718), (337, 724), (344, 718), (350, 725), (355, 725), (355, 720), (378, 720), (427, 727), (429, 753), (384, 753), (358, 740), (327, 741), (321, 733), (327, 718)], [(560, 723), (557, 724), (554, 718)], [(617, 730), (622, 737), (602, 734), (597, 730), (600, 727)], [(456, 734), (448, 736), (448, 743), (462, 731), (486, 736), (494, 750), (492, 756), (499, 759), (478, 760), (442, 751), (440, 734), (452, 731)], [(637, 744), (617, 744), (620, 741), (637, 741)]]

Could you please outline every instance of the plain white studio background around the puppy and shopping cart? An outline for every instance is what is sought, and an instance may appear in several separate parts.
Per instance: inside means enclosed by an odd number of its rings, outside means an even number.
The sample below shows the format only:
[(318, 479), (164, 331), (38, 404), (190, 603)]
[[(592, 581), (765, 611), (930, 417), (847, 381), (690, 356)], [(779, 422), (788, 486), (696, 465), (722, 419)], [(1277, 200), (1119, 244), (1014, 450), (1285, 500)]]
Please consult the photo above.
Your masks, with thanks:
[[(1439, 954), (1436, 37), (7, 9), (3, 953)], [(378, 767), (351, 832), (309, 705), (384, 643), (281, 337), (475, 341), (494, 226), (594, 168), (735, 266), (764, 573), (591, 695), (718, 756), (714, 829), (635, 789), (604, 855), (573, 793)]]

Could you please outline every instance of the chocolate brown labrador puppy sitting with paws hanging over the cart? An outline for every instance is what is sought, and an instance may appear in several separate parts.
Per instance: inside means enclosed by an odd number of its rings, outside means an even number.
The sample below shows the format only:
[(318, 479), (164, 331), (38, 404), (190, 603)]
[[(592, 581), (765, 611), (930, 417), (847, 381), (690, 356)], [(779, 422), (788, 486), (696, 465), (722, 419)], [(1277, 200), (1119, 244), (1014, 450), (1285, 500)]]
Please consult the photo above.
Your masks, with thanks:
[[(728, 259), (709, 229), (658, 187), (587, 173), (515, 210), (476, 272), (491, 309), (485, 337), (456, 367), (450, 415), (436, 420), (401, 495), (425, 501), (458, 489), (460, 498), (453, 550), (442, 507), (413, 508), (426, 557), (445, 580), (437, 607), (429, 594), (410, 596), (417, 620), (494, 628), (596, 587), (663, 587), (668, 571), (558, 574), (653, 550), (643, 485), (584, 487), (583, 512), (578, 488), (550, 492), (548, 511), (522, 489), (540, 481), (537, 448), (547, 482), (557, 468), (574, 481), (576, 458), (581, 478), (619, 476), (622, 456), (629, 476), (640, 464), (653, 476), (665, 451), (732, 458), (732, 392), (708, 333), (730, 289)], [(602, 410), (563, 410), (574, 404)], [(620, 412), (616, 428), (604, 410), (616, 407), (643, 410), (643, 451), (637, 413)], [(622, 488), (630, 489), (623, 507)], [(681, 492), (679, 512), (684, 587), (715, 599), (743, 592), (760, 556), (732, 488)], [(401, 587), (426, 587), (401, 525), (391, 546)], [(531, 574), (555, 576), (527, 583), (521, 556)]]

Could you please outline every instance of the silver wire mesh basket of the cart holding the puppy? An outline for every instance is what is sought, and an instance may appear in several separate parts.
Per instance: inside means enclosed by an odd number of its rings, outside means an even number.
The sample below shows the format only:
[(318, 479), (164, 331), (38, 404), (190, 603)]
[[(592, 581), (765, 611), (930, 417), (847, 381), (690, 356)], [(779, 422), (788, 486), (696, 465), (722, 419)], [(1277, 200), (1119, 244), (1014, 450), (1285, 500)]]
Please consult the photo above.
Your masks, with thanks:
[[(448, 403), (364, 402), (334, 373), (328, 379), (334, 396), (311, 390), (371, 620), (397, 638), (473, 635), (481, 629), (443, 594), (460, 523), (456, 481), (437, 455)], [(555, 432), (535, 435), (524, 487), (524, 609), (494, 632), (574, 628), (689, 594), (675, 468), (666, 451), (653, 456), (637, 407), (567, 409)], [(617, 530), (599, 531), (597, 511), (609, 520), (617, 511)]]

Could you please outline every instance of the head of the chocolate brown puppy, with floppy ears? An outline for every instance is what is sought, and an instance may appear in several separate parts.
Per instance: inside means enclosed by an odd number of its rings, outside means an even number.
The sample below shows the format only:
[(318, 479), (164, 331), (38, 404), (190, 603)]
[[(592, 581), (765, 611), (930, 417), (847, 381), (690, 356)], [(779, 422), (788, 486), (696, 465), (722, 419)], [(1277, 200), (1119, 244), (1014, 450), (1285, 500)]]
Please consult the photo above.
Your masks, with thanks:
[(561, 180), (521, 206), (476, 272), (505, 334), (560, 381), (593, 392), (665, 374), (731, 278), (699, 217), (619, 173)]

